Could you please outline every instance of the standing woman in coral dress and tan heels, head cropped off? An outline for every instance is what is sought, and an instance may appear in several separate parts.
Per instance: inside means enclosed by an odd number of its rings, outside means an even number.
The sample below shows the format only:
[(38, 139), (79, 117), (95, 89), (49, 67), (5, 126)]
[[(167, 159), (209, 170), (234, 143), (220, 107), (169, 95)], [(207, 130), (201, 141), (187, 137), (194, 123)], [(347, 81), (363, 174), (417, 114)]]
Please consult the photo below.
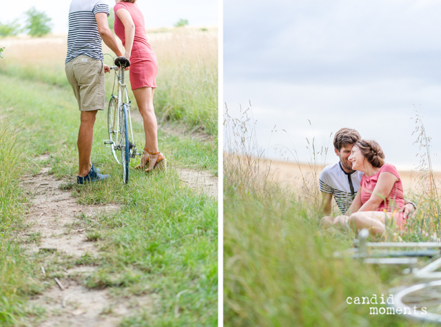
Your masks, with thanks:
[(115, 0), (115, 34), (123, 41), (124, 56), (130, 59), (130, 85), (143, 116), (145, 147), (141, 165), (145, 172), (166, 169), (167, 160), (158, 149), (158, 123), (154, 114), (153, 94), (156, 88), (158, 60), (147, 42), (144, 17), (136, 0)]

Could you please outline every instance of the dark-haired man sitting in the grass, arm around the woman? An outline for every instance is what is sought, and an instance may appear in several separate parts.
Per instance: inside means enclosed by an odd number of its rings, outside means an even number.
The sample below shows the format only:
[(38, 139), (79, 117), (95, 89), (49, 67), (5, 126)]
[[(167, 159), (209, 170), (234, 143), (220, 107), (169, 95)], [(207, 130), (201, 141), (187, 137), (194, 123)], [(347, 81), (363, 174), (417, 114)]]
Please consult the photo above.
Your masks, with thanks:
[[(325, 167), (320, 173), (320, 191), (322, 193), (321, 211), (326, 215), (322, 223), (333, 224), (334, 218), (330, 217), (332, 209), (332, 197), (336, 200), (338, 208), (343, 215), (348, 213), (353, 198), (355, 198), (363, 175), (361, 171), (352, 169), (352, 164), (348, 158), (351, 155), (352, 147), (361, 140), (361, 136), (355, 129), (339, 129), (334, 136), (334, 151), (340, 159), (336, 164)], [(413, 202), (407, 202), (403, 207), (403, 212), (408, 215), (416, 209)], [(325, 222), (326, 221), (326, 222)]]

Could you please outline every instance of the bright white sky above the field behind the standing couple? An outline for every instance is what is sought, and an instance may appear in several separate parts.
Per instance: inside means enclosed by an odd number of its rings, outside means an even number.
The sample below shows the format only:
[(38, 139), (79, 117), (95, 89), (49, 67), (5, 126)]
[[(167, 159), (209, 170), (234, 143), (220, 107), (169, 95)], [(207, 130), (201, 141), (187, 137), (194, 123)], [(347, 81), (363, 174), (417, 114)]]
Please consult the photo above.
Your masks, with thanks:
[[(0, 23), (22, 18), (32, 6), (45, 12), (53, 23), (54, 33), (68, 32), (69, 0), (20, 0), (1, 1)], [(105, 0), (114, 6), (112, 0)], [(18, 4), (17, 4), (18, 3)], [(179, 19), (187, 19), (189, 25), (218, 25), (217, 0), (138, 0), (147, 28), (172, 26)]]

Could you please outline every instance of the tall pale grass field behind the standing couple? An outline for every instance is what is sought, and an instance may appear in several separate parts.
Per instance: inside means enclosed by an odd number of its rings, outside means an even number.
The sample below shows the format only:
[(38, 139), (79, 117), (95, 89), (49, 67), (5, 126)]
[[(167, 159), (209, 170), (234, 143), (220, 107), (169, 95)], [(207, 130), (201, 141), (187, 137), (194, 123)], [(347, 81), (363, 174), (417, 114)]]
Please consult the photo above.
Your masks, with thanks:
[[(185, 123), (190, 129), (197, 129), (217, 137), (217, 30), (215, 32), (165, 30), (156, 34), (170, 32), (171, 37), (158, 37), (157, 41), (152, 41), (159, 62), (156, 77), (158, 88), (155, 89), (154, 95), (156, 116), (160, 121)], [(7, 49), (5, 58), (2, 59), (0, 73), (70, 89), (64, 71), (65, 45), (48, 43), (42, 51), (41, 44), (44, 43), (25, 44), (18, 40), (12, 43)], [(105, 46), (103, 52), (114, 55)], [(105, 63), (112, 65), (110, 56), (104, 58)], [(112, 89), (114, 72), (106, 76), (107, 94)], [(129, 94), (136, 107), (131, 89)]]

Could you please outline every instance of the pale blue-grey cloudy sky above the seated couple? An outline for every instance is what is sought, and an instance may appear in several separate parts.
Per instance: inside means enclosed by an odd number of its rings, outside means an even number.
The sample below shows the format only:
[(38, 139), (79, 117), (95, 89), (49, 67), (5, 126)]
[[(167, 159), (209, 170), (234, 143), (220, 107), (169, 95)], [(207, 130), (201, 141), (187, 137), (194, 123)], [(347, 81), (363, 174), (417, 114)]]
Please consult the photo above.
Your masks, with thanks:
[(401, 169), (418, 164), (415, 104), (441, 169), (440, 12), (428, 0), (224, 0), (225, 102), (238, 115), (251, 101), (263, 149), (305, 162), (306, 137), (326, 146), (352, 127)]

